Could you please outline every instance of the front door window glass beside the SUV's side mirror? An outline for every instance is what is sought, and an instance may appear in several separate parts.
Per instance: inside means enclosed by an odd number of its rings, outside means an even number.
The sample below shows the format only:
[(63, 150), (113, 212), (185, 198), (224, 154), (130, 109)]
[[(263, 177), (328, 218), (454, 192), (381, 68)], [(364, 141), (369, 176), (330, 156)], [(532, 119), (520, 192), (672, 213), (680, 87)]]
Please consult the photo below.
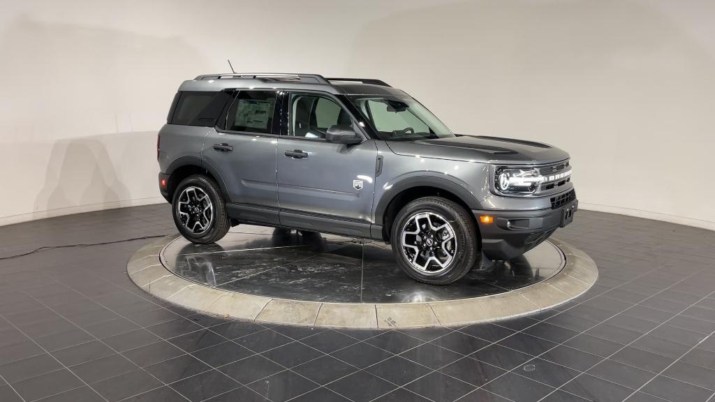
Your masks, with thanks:
[(350, 114), (328, 97), (315, 94), (290, 95), (290, 131), (295, 137), (325, 138), (331, 126), (351, 124)]

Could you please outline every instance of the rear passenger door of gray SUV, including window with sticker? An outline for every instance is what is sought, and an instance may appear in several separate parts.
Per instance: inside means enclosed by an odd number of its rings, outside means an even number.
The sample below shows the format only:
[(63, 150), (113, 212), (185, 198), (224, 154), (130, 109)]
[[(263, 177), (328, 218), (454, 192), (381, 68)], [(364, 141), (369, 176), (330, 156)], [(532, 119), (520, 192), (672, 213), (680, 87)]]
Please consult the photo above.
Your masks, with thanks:
[(233, 218), (279, 224), (275, 157), (279, 105), (277, 91), (242, 90), (204, 142), (204, 162), (220, 172)]

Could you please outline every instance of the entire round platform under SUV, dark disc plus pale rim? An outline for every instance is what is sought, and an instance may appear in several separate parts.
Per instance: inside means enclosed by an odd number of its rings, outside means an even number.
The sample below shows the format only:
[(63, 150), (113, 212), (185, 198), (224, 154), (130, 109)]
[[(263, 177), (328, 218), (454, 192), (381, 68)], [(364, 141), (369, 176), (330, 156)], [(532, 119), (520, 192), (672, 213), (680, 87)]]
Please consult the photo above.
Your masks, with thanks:
[(205, 313), (337, 327), (455, 325), (533, 313), (588, 290), (591, 258), (558, 240), (443, 286), (408, 278), (390, 245), (241, 225), (214, 245), (179, 235), (139, 250), (129, 276)]

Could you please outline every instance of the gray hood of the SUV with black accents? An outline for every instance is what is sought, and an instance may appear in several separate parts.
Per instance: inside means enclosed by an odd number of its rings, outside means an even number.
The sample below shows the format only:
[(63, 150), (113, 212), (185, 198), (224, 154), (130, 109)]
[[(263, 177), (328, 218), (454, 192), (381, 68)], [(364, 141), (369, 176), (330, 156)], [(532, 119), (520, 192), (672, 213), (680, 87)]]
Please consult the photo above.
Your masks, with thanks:
[(501, 137), (457, 137), (390, 141), (388, 146), (397, 155), (420, 156), (466, 162), (538, 165), (568, 159), (568, 153), (541, 142)]

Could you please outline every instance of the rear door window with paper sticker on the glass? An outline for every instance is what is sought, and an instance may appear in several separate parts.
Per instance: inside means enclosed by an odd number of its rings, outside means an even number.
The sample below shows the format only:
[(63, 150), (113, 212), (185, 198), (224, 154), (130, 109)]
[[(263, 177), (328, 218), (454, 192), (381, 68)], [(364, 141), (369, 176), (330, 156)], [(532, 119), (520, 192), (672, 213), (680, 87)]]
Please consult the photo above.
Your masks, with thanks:
[(277, 119), (275, 91), (241, 91), (231, 105), (226, 119), (229, 131), (271, 134)]

